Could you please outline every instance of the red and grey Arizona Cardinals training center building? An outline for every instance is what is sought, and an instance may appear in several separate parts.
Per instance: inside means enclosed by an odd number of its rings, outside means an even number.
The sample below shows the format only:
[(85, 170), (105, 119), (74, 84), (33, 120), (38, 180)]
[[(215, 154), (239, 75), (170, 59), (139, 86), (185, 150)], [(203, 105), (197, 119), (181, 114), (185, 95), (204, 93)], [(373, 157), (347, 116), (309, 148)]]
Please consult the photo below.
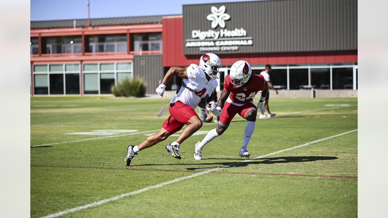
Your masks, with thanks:
[[(31, 95), (101, 95), (125, 77), (154, 94), (171, 66), (220, 56), (272, 65), (278, 97), (357, 97), (357, 0), (183, 5), (182, 15), (31, 21)], [(182, 83), (173, 78), (166, 90)], [(314, 90), (313, 92), (311, 90)], [(272, 95), (274, 96), (274, 95)]]

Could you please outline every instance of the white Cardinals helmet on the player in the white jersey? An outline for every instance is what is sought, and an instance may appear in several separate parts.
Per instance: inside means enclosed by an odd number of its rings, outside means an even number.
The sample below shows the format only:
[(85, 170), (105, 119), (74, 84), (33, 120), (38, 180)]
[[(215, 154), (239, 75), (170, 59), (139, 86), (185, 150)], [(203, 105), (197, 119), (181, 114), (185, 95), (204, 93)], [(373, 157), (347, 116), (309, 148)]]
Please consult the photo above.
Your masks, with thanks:
[(206, 53), (199, 59), (199, 67), (213, 80), (220, 78), (218, 69), (222, 67), (221, 59), (213, 53)]

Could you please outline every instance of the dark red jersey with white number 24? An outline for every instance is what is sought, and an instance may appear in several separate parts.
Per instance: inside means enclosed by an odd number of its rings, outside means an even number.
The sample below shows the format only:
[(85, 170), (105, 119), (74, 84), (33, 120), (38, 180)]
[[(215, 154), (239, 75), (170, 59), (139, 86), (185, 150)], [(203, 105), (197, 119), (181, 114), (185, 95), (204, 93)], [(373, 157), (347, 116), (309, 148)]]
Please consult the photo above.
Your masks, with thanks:
[(227, 75), (223, 82), (223, 90), (230, 92), (227, 102), (241, 106), (253, 101), (253, 98), (259, 91), (263, 91), (265, 88), (265, 80), (262, 75), (252, 74), (250, 78), (251, 82), (248, 87), (235, 87), (230, 82), (230, 77)]

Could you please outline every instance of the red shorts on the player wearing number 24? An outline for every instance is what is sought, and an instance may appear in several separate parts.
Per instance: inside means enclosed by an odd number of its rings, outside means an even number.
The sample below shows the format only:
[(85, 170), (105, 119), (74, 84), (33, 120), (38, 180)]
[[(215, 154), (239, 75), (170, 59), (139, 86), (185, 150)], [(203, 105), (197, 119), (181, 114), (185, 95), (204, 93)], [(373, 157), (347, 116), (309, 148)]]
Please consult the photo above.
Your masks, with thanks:
[(257, 107), (250, 102), (244, 104), (243, 106), (236, 106), (225, 102), (221, 112), (220, 123), (221, 125), (223, 124), (224, 126), (229, 126), (230, 121), (234, 118), (234, 115), (239, 114), (242, 118), (245, 118), (245, 114), (249, 110), (257, 111)]

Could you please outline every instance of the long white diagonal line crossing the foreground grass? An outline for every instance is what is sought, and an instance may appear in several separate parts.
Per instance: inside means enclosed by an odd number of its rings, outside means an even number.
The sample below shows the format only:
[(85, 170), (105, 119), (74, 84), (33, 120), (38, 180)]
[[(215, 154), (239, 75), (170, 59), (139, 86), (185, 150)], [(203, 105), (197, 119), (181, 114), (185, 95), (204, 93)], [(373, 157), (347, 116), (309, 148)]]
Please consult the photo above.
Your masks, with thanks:
[(267, 156), (271, 156), (271, 155), (274, 155), (274, 154), (279, 154), (279, 153), (284, 152), (284, 151), (289, 151), (289, 150), (292, 150), (292, 149), (304, 147), (304, 146), (307, 146), (307, 145), (310, 145), (310, 144), (313, 144), (313, 143), (317, 143), (317, 142), (320, 142), (320, 141), (323, 141), (323, 140), (327, 140), (327, 139), (330, 139), (330, 138), (334, 138), (334, 137), (338, 137), (338, 136), (345, 135), (345, 134), (348, 134), (348, 133), (352, 133), (354, 131), (357, 131), (357, 129), (352, 130), (352, 131), (347, 131), (347, 132), (344, 132), (344, 133), (341, 133), (341, 134), (338, 134), (338, 135), (333, 135), (331, 137), (321, 138), (321, 139), (318, 139), (318, 140), (315, 140), (315, 141), (312, 141), (312, 142), (308, 142), (308, 143), (303, 144), (303, 145), (298, 145), (298, 146), (294, 146), (294, 147), (291, 147), (291, 148), (288, 148), (288, 149), (283, 149), (283, 150), (280, 150), (280, 151), (275, 151), (275, 152), (272, 152), (272, 153), (269, 153), (269, 154), (265, 154), (265, 155), (262, 155), (262, 156), (259, 156), (259, 157), (255, 157), (253, 159), (247, 159), (247, 160), (240, 161), (240, 162), (237, 162), (237, 163), (232, 163), (232, 164), (229, 164), (229, 165), (226, 165), (226, 166), (217, 167), (217, 168), (213, 168), (213, 169), (210, 169), (210, 170), (205, 170), (205, 171), (202, 171), (202, 172), (199, 172), (199, 173), (194, 173), (194, 174), (189, 175), (189, 176), (184, 176), (184, 177), (176, 178), (176, 179), (170, 180), (168, 182), (162, 182), (162, 183), (159, 183), (157, 185), (152, 185), (152, 186), (149, 186), (149, 187), (145, 187), (144, 189), (135, 190), (133, 192), (128, 192), (126, 194), (122, 194), (122, 195), (119, 195), (119, 196), (111, 197), (111, 198), (104, 199), (104, 200), (97, 201), (97, 202), (93, 202), (93, 203), (90, 203), (90, 204), (85, 204), (83, 206), (79, 206), (79, 207), (76, 207), (76, 208), (67, 209), (67, 210), (60, 211), (58, 213), (53, 213), (53, 214), (50, 214), (50, 215), (47, 215), (47, 216), (42, 216), (41, 218), (54, 218), (54, 217), (57, 217), (57, 216), (65, 215), (67, 213), (72, 213), (72, 212), (79, 211), (79, 210), (82, 210), (82, 209), (86, 209), (86, 208), (98, 206), (98, 205), (101, 205), (101, 204), (105, 204), (105, 203), (110, 202), (110, 201), (117, 201), (117, 200), (122, 199), (123, 197), (126, 197), (126, 196), (132, 196), (132, 195), (135, 195), (135, 194), (139, 194), (139, 193), (145, 192), (147, 190), (159, 188), (159, 187), (162, 187), (164, 185), (168, 185), (168, 184), (171, 184), (171, 183), (174, 183), (174, 182), (179, 182), (181, 180), (185, 180), (185, 179), (188, 179), (188, 178), (204, 175), (204, 174), (207, 174), (207, 173), (210, 173), (210, 172), (213, 172), (213, 171), (217, 171), (217, 170), (222, 170), (224, 168), (236, 166), (236, 165), (241, 164), (241, 163), (250, 162), (250, 161), (253, 161), (253, 160), (256, 160), (256, 159), (260, 159), (260, 158), (263, 158), (263, 157), (267, 157)]

